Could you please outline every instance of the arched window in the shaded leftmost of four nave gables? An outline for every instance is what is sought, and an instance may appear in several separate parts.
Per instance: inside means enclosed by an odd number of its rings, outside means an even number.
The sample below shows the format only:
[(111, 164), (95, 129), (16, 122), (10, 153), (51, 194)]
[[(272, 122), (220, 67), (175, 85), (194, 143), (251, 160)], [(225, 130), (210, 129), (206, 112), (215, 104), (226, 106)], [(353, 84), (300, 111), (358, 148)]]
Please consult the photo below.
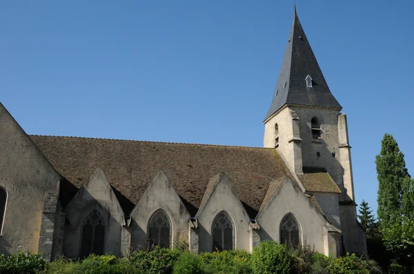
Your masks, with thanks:
[(103, 254), (105, 226), (105, 219), (97, 209), (86, 216), (82, 228), (81, 257), (86, 257), (90, 253)]

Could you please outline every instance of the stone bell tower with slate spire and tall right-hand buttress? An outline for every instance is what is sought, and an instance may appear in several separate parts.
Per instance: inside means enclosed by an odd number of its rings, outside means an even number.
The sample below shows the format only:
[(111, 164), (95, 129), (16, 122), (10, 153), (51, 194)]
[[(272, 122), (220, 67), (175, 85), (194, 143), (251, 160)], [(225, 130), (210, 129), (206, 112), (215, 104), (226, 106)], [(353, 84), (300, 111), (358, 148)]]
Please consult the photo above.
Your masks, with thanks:
[(297, 175), (329, 173), (342, 191), (338, 197), (338, 215), (345, 249), (358, 252), (351, 243), (357, 229), (357, 215), (348, 126), (341, 110), (295, 8), (273, 101), (264, 119), (264, 147), (275, 148)]

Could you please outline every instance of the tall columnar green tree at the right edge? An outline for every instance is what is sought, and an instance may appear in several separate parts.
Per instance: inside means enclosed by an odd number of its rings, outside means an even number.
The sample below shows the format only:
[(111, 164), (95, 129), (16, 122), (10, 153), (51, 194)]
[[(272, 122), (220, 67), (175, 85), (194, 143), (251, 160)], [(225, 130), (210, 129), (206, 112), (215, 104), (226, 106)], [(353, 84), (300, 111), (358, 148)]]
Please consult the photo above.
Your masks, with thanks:
[(382, 240), (395, 259), (413, 261), (414, 190), (404, 154), (391, 134), (385, 134), (376, 156), (378, 178), (378, 221)]

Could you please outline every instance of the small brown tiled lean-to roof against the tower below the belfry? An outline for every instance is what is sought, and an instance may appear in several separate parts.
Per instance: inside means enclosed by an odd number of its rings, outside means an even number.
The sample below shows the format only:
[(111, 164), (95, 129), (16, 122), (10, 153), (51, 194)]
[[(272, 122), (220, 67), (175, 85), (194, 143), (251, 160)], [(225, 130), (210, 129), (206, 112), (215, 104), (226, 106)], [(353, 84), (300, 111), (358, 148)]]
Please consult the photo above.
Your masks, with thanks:
[(325, 169), (304, 167), (304, 175), (298, 175), (306, 191), (341, 193), (339, 187)]

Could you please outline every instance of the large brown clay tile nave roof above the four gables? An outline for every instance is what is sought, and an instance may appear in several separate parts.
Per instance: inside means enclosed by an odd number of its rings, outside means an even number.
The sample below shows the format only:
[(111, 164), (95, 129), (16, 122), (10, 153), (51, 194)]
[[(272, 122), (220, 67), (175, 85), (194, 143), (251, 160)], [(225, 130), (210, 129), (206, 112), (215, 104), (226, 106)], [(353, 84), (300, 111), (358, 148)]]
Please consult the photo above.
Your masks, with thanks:
[(226, 173), (252, 218), (270, 182), (284, 176), (292, 178), (275, 149), (61, 136), (30, 138), (53, 167), (78, 188), (96, 167), (102, 167), (126, 214), (159, 169), (166, 172), (191, 215), (195, 215), (209, 179), (220, 172)]

